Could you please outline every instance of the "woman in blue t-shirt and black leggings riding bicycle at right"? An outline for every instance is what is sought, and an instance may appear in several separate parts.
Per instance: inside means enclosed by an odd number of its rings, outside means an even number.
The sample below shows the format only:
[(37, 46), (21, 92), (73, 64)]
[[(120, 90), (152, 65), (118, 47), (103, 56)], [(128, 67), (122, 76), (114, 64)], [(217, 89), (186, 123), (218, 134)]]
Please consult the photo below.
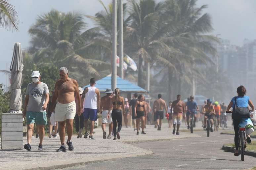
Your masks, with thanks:
[[(230, 112), (231, 107), (233, 107), (233, 111), (234, 111), (235, 106), (248, 109), (248, 104), (252, 108), (252, 110), (254, 110), (252, 101), (248, 96), (245, 95), (246, 89), (244, 86), (237, 87), (236, 93), (237, 93), (237, 96), (234, 97), (229, 103), (227, 112)], [(242, 118), (232, 113), (232, 119), (233, 119), (233, 125), (235, 130), (235, 154), (234, 155), (239, 156), (239, 150), (238, 150), (239, 149), (239, 126), (238, 125), (242, 120)], [(247, 135), (246, 141), (247, 143), (251, 143), (250, 135)]]

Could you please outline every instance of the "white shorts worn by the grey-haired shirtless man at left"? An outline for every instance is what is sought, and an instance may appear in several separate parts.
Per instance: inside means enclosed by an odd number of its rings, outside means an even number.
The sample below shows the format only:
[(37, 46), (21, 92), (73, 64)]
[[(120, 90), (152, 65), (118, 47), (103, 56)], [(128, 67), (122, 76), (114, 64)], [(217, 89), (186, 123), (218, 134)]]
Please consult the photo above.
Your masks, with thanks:
[(74, 119), (76, 104), (72, 101), (67, 104), (57, 102), (55, 107), (54, 118), (56, 122), (63, 122), (66, 119)]

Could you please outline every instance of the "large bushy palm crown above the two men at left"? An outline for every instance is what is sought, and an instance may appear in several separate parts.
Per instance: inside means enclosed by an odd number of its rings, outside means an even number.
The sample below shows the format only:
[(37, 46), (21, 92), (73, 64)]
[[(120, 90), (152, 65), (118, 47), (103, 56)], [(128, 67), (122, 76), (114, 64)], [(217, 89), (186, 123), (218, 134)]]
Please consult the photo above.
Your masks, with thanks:
[[(101, 77), (101, 71), (109, 69), (102, 61), (99, 45), (94, 44), (98, 29), (83, 32), (87, 24), (80, 13), (61, 13), (52, 10), (40, 16), (29, 29), (32, 36), (29, 53), (35, 63), (66, 66), (73, 78), (85, 83), (84, 75)], [(82, 73), (82, 74), (81, 74)]]

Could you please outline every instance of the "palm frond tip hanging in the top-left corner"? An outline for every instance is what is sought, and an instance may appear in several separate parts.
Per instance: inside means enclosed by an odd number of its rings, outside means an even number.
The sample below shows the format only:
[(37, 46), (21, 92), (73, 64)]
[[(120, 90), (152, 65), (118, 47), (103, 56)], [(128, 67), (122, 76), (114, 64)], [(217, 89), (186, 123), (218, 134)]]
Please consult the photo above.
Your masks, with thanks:
[(14, 28), (18, 31), (18, 25), (18, 13), (14, 10), (14, 6), (7, 0), (0, 0), (0, 28), (5, 27), (8, 31), (13, 31)]

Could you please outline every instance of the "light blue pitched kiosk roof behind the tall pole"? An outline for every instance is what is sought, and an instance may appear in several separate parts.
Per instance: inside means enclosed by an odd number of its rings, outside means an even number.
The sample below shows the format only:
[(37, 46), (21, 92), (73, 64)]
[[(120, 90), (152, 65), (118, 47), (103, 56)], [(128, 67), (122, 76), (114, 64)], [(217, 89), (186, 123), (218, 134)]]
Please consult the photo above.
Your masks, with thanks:
[[(89, 87), (90, 84), (83, 87)], [(111, 76), (104, 77), (96, 81), (95, 85), (101, 92), (105, 92), (106, 89), (111, 89)], [(147, 90), (131, 83), (130, 81), (124, 80), (120, 77), (116, 77), (116, 87), (119, 88), (122, 92), (127, 93), (148, 93)]]

